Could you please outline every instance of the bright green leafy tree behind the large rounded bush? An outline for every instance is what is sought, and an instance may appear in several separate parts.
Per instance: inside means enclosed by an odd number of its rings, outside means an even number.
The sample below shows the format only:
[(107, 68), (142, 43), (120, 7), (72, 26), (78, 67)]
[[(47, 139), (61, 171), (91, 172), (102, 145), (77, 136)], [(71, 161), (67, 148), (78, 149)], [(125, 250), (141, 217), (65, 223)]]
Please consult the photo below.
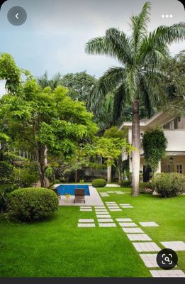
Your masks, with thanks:
[(31, 80), (23, 84), (20, 93), (6, 94), (0, 101), (0, 116), (11, 129), (12, 141), (23, 143), (36, 157), (42, 187), (48, 186), (47, 155), (62, 153), (71, 158), (79, 143), (90, 143), (97, 131), (92, 114), (67, 93), (62, 86), (53, 92), (50, 87), (42, 90)]

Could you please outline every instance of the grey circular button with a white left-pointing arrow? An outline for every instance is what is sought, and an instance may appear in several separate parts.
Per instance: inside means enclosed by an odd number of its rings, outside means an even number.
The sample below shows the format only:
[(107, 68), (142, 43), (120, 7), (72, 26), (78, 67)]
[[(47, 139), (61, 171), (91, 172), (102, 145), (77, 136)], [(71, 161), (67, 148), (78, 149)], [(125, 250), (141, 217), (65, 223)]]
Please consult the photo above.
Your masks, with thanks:
[(22, 7), (15, 6), (9, 10), (7, 18), (13, 26), (21, 26), (26, 22), (27, 13)]

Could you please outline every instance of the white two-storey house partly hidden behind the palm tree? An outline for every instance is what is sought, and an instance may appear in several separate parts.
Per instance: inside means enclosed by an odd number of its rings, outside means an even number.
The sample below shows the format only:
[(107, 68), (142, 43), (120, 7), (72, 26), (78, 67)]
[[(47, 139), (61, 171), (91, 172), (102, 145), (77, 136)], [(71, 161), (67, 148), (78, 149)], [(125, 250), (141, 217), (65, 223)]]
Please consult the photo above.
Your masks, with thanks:
[[(121, 129), (128, 127), (128, 141), (132, 143), (132, 122), (124, 121)], [(185, 175), (185, 117), (176, 118), (173, 115), (158, 112), (151, 119), (140, 120), (140, 134), (152, 129), (162, 128), (167, 138), (166, 157), (159, 162), (157, 172), (182, 173)], [(132, 156), (130, 156), (130, 172), (132, 171)], [(143, 180), (148, 180), (148, 170), (145, 167), (142, 148), (140, 149), (140, 170), (143, 172)]]

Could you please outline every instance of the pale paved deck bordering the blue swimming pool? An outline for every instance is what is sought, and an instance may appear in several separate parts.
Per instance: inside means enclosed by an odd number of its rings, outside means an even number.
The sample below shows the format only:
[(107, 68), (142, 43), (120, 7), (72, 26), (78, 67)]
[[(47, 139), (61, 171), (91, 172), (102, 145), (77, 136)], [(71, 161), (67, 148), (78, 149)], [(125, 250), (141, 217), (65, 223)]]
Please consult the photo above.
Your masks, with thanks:
[[(56, 186), (56, 185), (55, 185)], [(74, 195), (70, 197), (65, 197), (65, 195), (60, 195), (59, 205), (60, 206), (103, 206), (103, 202), (99, 193), (97, 192), (95, 187), (89, 185), (90, 195), (85, 196), (85, 203), (74, 203)]]

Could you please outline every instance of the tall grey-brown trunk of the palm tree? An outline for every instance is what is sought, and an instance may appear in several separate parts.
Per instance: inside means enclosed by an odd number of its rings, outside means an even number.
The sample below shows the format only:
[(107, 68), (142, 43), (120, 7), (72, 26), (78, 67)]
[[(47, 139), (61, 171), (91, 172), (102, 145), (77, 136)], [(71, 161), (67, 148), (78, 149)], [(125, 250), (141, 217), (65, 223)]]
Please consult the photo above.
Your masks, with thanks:
[(132, 153), (132, 170), (133, 170), (133, 188), (131, 195), (139, 195), (140, 182), (140, 118), (139, 118), (140, 102), (135, 99), (133, 102), (133, 125), (132, 125), (132, 145), (135, 151)]

